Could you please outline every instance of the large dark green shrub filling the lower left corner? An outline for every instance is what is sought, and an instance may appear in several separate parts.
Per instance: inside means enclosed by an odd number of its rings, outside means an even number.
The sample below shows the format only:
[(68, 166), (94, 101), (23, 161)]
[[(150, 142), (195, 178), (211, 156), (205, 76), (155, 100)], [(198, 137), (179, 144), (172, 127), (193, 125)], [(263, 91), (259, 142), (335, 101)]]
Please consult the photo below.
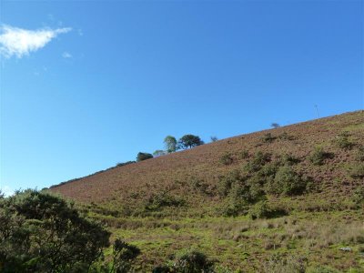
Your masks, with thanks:
[(110, 233), (72, 204), (34, 190), (0, 199), (1, 272), (87, 272)]

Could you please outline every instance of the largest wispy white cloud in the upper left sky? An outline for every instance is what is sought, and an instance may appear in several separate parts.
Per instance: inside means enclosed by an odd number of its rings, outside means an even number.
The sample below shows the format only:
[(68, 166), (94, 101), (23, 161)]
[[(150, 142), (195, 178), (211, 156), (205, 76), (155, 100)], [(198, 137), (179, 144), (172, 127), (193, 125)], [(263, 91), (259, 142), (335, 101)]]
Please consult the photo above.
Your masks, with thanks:
[(0, 26), (0, 55), (9, 58), (29, 55), (46, 44), (59, 34), (71, 31), (70, 27), (57, 29), (27, 30), (10, 25)]

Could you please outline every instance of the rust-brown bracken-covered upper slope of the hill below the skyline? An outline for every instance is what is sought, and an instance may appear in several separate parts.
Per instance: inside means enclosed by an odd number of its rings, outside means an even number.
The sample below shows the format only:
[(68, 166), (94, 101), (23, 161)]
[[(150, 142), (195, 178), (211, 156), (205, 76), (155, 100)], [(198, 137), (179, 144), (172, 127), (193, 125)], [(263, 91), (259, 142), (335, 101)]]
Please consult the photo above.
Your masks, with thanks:
[[(352, 150), (348, 151), (333, 144), (335, 137), (342, 131), (349, 131), (350, 139), (357, 145), (363, 145), (364, 111), (223, 139), (167, 156), (111, 168), (96, 175), (52, 187), (51, 190), (82, 202), (105, 202), (111, 199), (121, 201), (136, 192), (148, 194), (162, 188), (180, 190), (180, 194), (188, 195), (186, 189), (182, 190), (181, 181), (198, 177), (210, 185), (215, 185), (220, 174), (248, 160), (238, 157), (241, 151), (247, 150), (251, 156), (262, 150), (273, 156), (290, 153), (300, 158), (298, 169), (301, 172), (313, 177), (317, 182), (326, 183), (329, 192), (345, 194), (350, 190), (350, 185), (332, 185), (334, 179), (347, 179), (344, 167), (351, 161), (354, 162), (355, 157)], [(272, 143), (262, 141), (262, 136), (267, 133), (281, 136), (284, 132), (293, 139), (278, 138)], [(313, 167), (307, 159), (313, 148), (319, 145), (335, 155), (329, 159), (325, 167)], [(219, 158), (226, 152), (235, 158), (234, 163), (228, 166), (219, 162)]]

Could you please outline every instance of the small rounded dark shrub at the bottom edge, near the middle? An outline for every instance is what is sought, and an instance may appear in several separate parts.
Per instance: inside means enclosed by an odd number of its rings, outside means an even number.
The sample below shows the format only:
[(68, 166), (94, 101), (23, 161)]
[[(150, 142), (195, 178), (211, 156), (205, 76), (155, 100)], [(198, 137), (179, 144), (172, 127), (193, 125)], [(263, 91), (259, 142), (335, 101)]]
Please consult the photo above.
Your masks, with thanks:
[(177, 254), (173, 263), (173, 271), (176, 273), (201, 273), (213, 272), (214, 262), (196, 249), (188, 249)]

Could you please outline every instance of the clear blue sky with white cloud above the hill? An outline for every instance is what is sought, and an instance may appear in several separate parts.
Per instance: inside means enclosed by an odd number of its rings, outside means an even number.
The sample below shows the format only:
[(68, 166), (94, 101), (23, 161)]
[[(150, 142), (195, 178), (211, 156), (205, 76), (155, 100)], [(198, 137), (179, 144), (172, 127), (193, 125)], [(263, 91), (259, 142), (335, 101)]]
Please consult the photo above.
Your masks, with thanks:
[(1, 1), (1, 182), (362, 109), (362, 1)]

